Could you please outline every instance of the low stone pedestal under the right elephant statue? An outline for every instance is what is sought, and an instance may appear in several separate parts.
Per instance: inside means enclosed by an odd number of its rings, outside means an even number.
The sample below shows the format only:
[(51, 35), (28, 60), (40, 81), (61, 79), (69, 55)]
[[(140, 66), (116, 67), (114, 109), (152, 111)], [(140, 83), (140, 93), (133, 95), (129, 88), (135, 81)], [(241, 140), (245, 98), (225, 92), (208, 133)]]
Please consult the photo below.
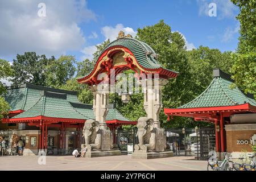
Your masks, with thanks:
[(144, 150), (135, 150), (131, 155), (132, 159), (156, 159), (156, 158), (170, 158), (174, 156), (172, 151), (150, 152)]

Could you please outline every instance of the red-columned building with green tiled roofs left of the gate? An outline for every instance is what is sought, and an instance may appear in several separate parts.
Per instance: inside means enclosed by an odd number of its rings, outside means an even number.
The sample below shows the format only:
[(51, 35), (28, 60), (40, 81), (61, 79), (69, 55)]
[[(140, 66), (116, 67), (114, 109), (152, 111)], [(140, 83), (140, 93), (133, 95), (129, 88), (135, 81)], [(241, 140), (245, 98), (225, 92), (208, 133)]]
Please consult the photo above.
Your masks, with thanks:
[[(11, 109), (9, 118), (0, 123), (0, 135), (8, 142), (15, 131), (23, 140), (24, 155), (37, 155), (39, 150), (70, 154), (81, 147), (86, 120), (95, 119), (93, 106), (79, 102), (77, 92), (22, 84), (8, 87), (4, 98)], [(117, 127), (137, 123), (125, 118), (113, 104), (106, 118), (114, 138)]]

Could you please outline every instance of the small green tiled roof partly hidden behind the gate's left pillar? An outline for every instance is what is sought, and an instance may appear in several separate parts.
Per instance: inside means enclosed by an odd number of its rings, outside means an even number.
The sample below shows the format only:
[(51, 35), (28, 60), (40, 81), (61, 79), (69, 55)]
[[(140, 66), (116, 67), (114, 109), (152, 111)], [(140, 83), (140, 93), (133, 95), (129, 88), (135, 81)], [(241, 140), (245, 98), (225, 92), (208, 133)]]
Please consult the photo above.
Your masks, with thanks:
[[(86, 115), (86, 117), (89, 117), (90, 119), (95, 119), (95, 115), (92, 110), (92, 105), (86, 105), (86, 104), (73, 104), (71, 105), (79, 111), (79, 113)], [(130, 121), (129, 119), (125, 118), (117, 109), (110, 108), (108, 111), (108, 115), (106, 116), (106, 121), (112, 121), (112, 120), (119, 120), (119, 121)]]

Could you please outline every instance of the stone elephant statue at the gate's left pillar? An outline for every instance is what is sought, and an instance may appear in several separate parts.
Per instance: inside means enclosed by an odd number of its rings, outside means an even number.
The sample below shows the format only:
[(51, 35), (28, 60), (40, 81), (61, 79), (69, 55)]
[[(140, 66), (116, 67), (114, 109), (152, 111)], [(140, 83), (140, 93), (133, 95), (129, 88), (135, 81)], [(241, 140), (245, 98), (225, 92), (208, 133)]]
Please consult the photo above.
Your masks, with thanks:
[(98, 121), (94, 121), (93, 119), (86, 121), (82, 129), (82, 136), (85, 139), (88, 150), (101, 148), (101, 130)]

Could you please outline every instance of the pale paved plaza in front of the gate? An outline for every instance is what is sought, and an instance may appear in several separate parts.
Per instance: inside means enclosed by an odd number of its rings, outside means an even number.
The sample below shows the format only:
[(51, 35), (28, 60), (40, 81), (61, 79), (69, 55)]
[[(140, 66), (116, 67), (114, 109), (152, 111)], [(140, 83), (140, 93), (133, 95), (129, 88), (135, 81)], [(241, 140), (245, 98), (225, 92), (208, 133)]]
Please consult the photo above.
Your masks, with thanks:
[(1, 156), (0, 170), (201, 171), (207, 169), (206, 161), (193, 159), (185, 156), (148, 160), (131, 159), (130, 155), (99, 158), (46, 156), (46, 164), (40, 165), (39, 156)]

